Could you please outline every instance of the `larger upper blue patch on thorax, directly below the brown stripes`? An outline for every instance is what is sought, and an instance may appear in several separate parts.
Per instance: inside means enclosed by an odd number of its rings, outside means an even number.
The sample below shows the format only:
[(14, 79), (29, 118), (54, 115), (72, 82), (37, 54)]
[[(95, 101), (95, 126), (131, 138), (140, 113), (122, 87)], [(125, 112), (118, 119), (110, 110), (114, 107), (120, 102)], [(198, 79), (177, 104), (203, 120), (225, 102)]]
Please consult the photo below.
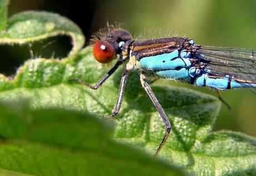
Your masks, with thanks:
[[(143, 70), (175, 70), (176, 68), (182, 68), (185, 66), (190, 66), (191, 63), (189, 59), (180, 59), (179, 51), (175, 50), (172, 53), (165, 53), (161, 55), (148, 56), (140, 60), (140, 66)], [(176, 59), (174, 59), (176, 58)], [(171, 60), (174, 59), (174, 60)], [(184, 63), (185, 61), (185, 63)]]

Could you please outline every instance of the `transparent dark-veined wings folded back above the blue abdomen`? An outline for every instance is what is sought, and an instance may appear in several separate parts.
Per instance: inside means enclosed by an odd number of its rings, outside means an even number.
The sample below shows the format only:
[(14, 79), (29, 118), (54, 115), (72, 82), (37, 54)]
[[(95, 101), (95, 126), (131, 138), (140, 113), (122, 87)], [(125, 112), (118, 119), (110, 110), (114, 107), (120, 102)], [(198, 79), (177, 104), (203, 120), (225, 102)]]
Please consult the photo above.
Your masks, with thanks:
[(229, 75), (242, 84), (256, 84), (255, 50), (201, 46), (196, 57), (206, 63), (206, 72), (211, 75)]

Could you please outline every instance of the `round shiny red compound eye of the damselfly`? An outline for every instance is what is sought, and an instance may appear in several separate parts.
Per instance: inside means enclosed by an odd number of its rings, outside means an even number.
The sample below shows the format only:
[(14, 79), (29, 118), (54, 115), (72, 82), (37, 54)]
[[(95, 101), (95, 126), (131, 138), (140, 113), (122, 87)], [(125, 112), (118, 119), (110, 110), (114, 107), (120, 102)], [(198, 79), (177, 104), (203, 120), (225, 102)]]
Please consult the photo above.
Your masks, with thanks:
[(93, 45), (92, 53), (99, 63), (110, 63), (116, 54), (114, 47), (104, 40), (99, 40)]

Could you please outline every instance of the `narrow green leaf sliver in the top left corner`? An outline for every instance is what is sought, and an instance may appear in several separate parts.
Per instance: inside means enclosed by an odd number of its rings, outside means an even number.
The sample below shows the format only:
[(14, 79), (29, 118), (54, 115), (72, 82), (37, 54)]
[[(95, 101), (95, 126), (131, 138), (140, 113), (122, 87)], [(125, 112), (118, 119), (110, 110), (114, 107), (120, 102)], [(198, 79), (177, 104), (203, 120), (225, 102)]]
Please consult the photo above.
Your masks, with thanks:
[(2, 36), (2, 30), (6, 29), (8, 4), (8, 0), (0, 0), (0, 37)]

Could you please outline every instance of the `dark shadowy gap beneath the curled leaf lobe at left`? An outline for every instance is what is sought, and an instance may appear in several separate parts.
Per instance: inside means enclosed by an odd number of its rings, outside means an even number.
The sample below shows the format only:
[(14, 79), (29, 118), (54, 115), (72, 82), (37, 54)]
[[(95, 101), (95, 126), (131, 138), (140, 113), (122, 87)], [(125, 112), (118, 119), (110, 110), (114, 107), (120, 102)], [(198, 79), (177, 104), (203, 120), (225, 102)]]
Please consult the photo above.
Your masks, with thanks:
[(71, 49), (71, 38), (66, 35), (58, 35), (23, 45), (0, 45), (0, 74), (15, 75), (19, 66), (23, 65), (28, 59), (66, 58)]

